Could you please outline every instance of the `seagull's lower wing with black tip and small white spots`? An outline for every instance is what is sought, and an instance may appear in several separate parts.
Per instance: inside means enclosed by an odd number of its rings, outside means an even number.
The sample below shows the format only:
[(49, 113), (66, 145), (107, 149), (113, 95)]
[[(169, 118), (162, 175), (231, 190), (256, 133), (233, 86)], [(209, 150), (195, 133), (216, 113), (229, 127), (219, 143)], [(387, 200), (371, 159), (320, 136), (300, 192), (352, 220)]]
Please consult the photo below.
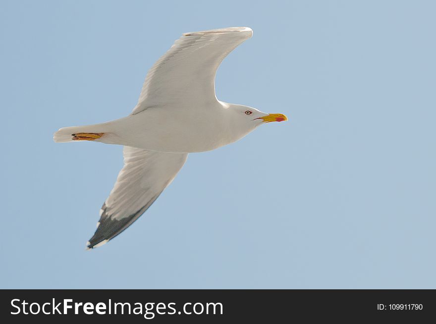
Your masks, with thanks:
[(171, 183), (188, 156), (129, 146), (124, 147), (123, 155), (124, 166), (100, 210), (100, 221), (88, 248), (103, 245), (138, 219)]

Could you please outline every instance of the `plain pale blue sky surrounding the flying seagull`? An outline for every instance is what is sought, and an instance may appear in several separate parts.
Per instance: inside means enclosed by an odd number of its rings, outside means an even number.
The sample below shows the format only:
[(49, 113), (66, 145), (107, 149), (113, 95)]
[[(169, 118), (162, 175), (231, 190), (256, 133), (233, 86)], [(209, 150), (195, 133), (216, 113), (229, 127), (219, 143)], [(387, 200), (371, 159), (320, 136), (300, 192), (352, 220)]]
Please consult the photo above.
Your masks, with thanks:
[[(435, 1), (0, 2), (0, 288), (436, 288)], [(129, 114), (183, 32), (249, 26), (218, 99), (288, 122), (191, 154), (85, 251)]]

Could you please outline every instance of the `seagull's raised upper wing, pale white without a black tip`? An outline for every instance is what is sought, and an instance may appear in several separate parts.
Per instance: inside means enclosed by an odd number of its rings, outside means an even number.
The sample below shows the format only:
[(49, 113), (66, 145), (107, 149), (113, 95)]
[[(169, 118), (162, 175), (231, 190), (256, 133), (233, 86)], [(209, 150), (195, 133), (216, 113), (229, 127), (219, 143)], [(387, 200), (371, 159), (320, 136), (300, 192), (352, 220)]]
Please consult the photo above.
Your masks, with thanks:
[(132, 114), (183, 103), (203, 107), (217, 101), (215, 74), (227, 54), (253, 35), (248, 27), (185, 33), (153, 65)]

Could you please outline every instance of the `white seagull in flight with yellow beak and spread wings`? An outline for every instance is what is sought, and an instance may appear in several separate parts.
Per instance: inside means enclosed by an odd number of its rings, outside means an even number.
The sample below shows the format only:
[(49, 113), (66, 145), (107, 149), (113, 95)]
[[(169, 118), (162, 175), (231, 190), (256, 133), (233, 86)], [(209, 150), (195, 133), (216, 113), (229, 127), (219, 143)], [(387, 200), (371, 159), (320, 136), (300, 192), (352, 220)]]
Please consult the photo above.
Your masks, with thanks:
[(124, 165), (100, 210), (87, 249), (107, 243), (155, 202), (189, 153), (233, 143), (281, 113), (228, 104), (215, 95), (215, 74), (227, 54), (252, 37), (248, 27), (184, 33), (149, 70), (127, 117), (60, 128), (54, 142), (123, 145)]

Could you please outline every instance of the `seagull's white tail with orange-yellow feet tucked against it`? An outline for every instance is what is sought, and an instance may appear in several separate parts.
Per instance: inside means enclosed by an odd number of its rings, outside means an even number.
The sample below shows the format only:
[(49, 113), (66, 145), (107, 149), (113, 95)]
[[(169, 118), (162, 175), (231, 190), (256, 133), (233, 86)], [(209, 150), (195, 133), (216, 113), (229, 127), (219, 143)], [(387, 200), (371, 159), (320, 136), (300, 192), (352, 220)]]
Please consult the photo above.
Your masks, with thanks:
[(103, 138), (110, 131), (111, 128), (109, 123), (87, 126), (63, 127), (54, 133), (53, 139), (56, 143), (95, 140), (100, 142), (100, 139)]

